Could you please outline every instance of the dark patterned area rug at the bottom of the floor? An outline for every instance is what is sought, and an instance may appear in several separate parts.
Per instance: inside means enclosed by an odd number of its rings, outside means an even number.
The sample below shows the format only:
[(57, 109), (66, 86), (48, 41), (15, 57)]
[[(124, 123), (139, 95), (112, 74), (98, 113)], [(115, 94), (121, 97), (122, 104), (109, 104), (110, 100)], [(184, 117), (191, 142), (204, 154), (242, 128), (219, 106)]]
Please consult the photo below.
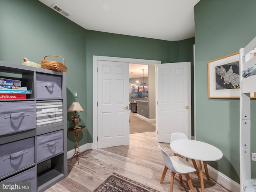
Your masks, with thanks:
[(117, 173), (110, 175), (93, 192), (160, 192)]

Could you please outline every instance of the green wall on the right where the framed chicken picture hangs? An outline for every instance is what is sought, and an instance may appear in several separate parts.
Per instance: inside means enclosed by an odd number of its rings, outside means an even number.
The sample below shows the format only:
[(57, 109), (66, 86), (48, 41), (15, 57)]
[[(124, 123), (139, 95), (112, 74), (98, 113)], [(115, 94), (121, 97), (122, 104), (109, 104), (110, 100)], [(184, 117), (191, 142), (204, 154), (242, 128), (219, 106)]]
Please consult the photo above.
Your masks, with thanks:
[[(208, 61), (238, 52), (256, 36), (255, 8), (256, 1), (252, 0), (200, 0), (194, 7), (196, 139), (222, 150), (223, 158), (209, 164), (238, 183), (239, 99), (208, 98)], [(253, 100), (252, 114), (255, 105)], [(255, 122), (256, 118), (252, 119), (252, 127)], [(255, 135), (252, 129), (252, 138)], [(255, 146), (252, 140), (254, 152)], [(256, 176), (255, 162), (252, 176)]]

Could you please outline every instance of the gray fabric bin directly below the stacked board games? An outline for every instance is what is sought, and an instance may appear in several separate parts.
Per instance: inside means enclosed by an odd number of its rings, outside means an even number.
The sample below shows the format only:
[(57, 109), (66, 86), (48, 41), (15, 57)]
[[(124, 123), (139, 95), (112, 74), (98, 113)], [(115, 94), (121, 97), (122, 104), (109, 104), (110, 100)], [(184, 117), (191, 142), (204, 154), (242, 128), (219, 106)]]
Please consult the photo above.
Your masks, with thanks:
[(0, 102), (0, 135), (36, 128), (36, 102)]

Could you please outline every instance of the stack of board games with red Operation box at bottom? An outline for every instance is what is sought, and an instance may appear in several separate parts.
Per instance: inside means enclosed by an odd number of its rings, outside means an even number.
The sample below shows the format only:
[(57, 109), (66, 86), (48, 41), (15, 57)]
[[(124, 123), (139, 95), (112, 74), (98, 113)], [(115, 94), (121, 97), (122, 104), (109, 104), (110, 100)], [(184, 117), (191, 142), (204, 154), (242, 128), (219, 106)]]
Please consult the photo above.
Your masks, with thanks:
[(26, 99), (26, 94), (32, 94), (21, 86), (20, 80), (0, 78), (0, 99)]

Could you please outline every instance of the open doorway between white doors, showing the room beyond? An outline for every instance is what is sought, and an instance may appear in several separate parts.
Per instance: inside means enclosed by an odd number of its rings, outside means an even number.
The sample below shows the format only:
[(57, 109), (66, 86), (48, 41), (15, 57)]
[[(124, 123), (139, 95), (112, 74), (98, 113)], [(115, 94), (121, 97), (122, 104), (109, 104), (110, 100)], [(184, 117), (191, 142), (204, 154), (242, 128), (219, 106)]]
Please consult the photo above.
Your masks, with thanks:
[(130, 134), (156, 130), (156, 66), (129, 64)]

